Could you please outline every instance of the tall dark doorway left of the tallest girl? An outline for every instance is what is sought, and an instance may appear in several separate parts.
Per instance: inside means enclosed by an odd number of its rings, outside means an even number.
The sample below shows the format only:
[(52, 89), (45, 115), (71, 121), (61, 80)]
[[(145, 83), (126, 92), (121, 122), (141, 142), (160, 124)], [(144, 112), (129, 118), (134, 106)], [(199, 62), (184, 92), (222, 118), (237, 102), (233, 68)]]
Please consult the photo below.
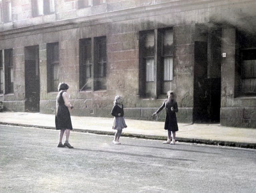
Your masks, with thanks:
[(25, 108), (40, 111), (39, 46), (25, 47)]

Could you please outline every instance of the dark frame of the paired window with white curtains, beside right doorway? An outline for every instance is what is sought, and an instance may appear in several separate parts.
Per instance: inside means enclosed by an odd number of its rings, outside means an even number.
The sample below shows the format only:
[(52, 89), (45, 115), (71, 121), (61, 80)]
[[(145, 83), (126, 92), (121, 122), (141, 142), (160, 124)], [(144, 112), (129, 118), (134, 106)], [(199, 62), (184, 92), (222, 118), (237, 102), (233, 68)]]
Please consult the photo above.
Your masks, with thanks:
[[(168, 54), (164, 53), (164, 33), (166, 31), (172, 31), (170, 33), (172, 37), (172, 45), (168, 47), (169, 52)], [(159, 98), (161, 95), (167, 93), (167, 89), (170, 90), (172, 88), (172, 81), (173, 81), (173, 27), (165, 27), (159, 29), (152, 29), (146, 31), (139, 32), (139, 95), (142, 98)], [(152, 36), (154, 33), (154, 41), (150, 40), (151, 47), (148, 46), (147, 48), (147, 36)], [(153, 43), (154, 42), (154, 45)], [(147, 60), (148, 58), (154, 59), (154, 66), (151, 66), (151, 71), (148, 71)], [(164, 79), (164, 58), (170, 58), (170, 73), (168, 73), (170, 79)], [(152, 60), (153, 61), (153, 60)], [(166, 65), (166, 64), (165, 64)], [(152, 72), (154, 69), (154, 72)], [(148, 79), (148, 72), (151, 74), (151, 78)], [(153, 81), (154, 80), (154, 81)], [(164, 85), (167, 86), (164, 86)], [(169, 85), (170, 84), (170, 85)], [(164, 90), (166, 88), (166, 90)], [(161, 96), (162, 97), (162, 96)]]

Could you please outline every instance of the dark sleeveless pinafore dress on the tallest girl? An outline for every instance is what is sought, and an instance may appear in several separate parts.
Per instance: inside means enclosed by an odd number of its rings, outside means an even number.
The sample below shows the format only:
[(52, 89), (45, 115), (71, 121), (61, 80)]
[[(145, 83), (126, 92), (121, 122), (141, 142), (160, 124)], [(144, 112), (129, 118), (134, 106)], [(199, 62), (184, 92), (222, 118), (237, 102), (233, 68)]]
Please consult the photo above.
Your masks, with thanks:
[(55, 116), (55, 126), (57, 130), (61, 129), (70, 129), (72, 130), (72, 123), (70, 118), (70, 112), (68, 110), (68, 107), (65, 105), (65, 101), (63, 99), (63, 93), (64, 91), (60, 91), (57, 95), (56, 102), (57, 102), (57, 108), (56, 116)]

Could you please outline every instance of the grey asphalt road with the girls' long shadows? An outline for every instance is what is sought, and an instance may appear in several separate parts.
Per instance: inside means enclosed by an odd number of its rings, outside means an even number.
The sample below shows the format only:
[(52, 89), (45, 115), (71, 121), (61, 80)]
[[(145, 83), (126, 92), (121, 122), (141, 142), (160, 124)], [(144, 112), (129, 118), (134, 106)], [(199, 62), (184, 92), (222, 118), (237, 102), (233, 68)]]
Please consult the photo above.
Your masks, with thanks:
[(0, 192), (256, 192), (256, 150), (0, 125)]

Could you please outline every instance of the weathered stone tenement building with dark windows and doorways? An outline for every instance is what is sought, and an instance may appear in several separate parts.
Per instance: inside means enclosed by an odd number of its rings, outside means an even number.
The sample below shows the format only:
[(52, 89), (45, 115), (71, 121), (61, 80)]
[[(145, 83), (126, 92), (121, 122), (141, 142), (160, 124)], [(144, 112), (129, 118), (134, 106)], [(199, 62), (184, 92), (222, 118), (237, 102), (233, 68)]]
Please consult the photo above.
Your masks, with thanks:
[[(150, 120), (173, 90), (181, 123), (256, 128), (255, 0), (0, 0), (0, 100), (53, 114)], [(164, 113), (159, 120), (164, 119)]]

